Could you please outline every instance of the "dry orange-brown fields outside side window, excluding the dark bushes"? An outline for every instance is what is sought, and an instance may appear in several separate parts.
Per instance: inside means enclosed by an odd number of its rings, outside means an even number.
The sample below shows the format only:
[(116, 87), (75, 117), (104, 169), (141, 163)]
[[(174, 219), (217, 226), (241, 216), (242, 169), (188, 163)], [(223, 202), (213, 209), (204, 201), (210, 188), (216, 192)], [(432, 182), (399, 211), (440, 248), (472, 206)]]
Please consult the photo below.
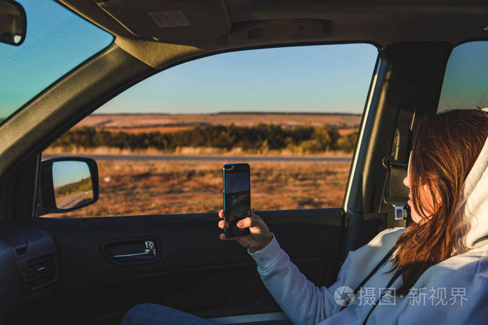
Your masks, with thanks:
[[(239, 157), (276, 156), (278, 157), (351, 157), (350, 152), (341, 150), (304, 150), (300, 144), (312, 145), (320, 136), (302, 141), (296, 145), (287, 145), (279, 150), (268, 148), (273, 140), (271, 132), (266, 141), (252, 143), (257, 148), (245, 149), (241, 145), (232, 148), (210, 146), (177, 146), (176, 148), (117, 148), (107, 145), (82, 145), (83, 141), (93, 141), (96, 134), (105, 132), (105, 136), (117, 134), (118, 140), (125, 136), (137, 136), (150, 132), (166, 133), (183, 129), (195, 129), (197, 126), (224, 125), (231, 123), (238, 127), (254, 127), (259, 123), (279, 125), (291, 134), (293, 127), (305, 126), (321, 130), (323, 125), (337, 128), (340, 136), (350, 134), (358, 128), (358, 115), (333, 114), (268, 114), (268, 113), (229, 113), (195, 115), (93, 115), (88, 116), (77, 127), (92, 127), (93, 134), (73, 138), (79, 145), (51, 146), (43, 154), (149, 154), (181, 156), (222, 156)], [(205, 129), (205, 128), (204, 128)], [(83, 130), (83, 129), (77, 129)], [(116, 133), (115, 133), (116, 132)], [(312, 131), (311, 131), (312, 132)], [(316, 132), (316, 131), (313, 131)], [(185, 133), (185, 132), (183, 132)], [(188, 133), (188, 132), (187, 132)], [(129, 135), (127, 135), (129, 134)], [(198, 134), (197, 134), (198, 135)], [(207, 140), (221, 134), (210, 136)], [(202, 134), (201, 136), (204, 136)], [(181, 134), (179, 135), (181, 138)], [(230, 136), (229, 136), (230, 137)], [(347, 137), (347, 136), (346, 136)], [(226, 137), (223, 137), (226, 138)], [(175, 138), (176, 140), (178, 137)], [(192, 139), (192, 137), (190, 137)], [(76, 141), (75, 141), (76, 140)], [(99, 139), (100, 140), (100, 139)], [(327, 140), (323, 138), (323, 140)], [(301, 141), (301, 140), (300, 140)], [(353, 138), (352, 143), (355, 143)], [(197, 141), (198, 142), (198, 141)], [(266, 144), (266, 145), (265, 145)], [(248, 145), (249, 146), (249, 145)], [(259, 148), (258, 148), (259, 147)], [(322, 147), (323, 148), (323, 147)], [(94, 205), (84, 207), (68, 214), (51, 214), (54, 217), (120, 216), (139, 214), (186, 214), (217, 212), (222, 208), (222, 164), (226, 161), (198, 161), (181, 159), (162, 160), (102, 160), (98, 157), (100, 175), (100, 199)], [(123, 159), (123, 158), (122, 158)], [(279, 159), (279, 158), (278, 158)], [(197, 159), (195, 159), (197, 160)], [(310, 159), (312, 160), (312, 159)], [(350, 161), (250, 161), (251, 164), (251, 204), (252, 209), (311, 209), (340, 207), (346, 189)]]

